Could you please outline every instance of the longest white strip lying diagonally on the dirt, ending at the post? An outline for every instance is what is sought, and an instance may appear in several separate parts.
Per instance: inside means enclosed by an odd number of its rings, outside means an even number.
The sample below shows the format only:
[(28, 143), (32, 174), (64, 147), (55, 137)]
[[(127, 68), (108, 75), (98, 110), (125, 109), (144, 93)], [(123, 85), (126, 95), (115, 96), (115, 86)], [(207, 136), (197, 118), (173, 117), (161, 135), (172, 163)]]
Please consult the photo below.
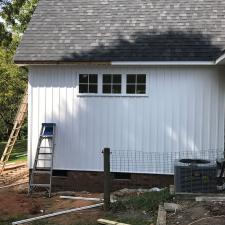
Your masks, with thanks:
[(75, 208), (75, 209), (68, 209), (68, 210), (65, 210), (65, 211), (59, 211), (59, 212), (55, 212), (55, 213), (51, 213), (51, 214), (46, 214), (46, 215), (43, 215), (43, 216), (37, 216), (37, 217), (25, 219), (25, 220), (15, 221), (15, 222), (12, 222), (12, 225), (29, 223), (29, 222), (36, 221), (36, 220), (47, 219), (47, 218), (50, 218), (50, 217), (60, 216), (60, 215), (68, 214), (68, 213), (72, 213), (72, 212), (79, 212), (79, 211), (86, 210), (86, 209), (93, 209), (93, 208), (97, 208), (97, 207), (100, 207), (100, 206), (103, 206), (103, 203), (90, 205), (90, 206), (84, 206), (84, 207)]

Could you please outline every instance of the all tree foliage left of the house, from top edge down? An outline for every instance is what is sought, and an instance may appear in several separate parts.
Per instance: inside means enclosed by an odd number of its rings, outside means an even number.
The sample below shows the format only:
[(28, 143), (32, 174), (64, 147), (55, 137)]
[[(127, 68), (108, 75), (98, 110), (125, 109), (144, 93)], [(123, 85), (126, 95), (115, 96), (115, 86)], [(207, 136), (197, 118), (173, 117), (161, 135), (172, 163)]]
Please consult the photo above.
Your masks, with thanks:
[(0, 0), (0, 140), (12, 128), (27, 84), (27, 69), (13, 63), (38, 0)]

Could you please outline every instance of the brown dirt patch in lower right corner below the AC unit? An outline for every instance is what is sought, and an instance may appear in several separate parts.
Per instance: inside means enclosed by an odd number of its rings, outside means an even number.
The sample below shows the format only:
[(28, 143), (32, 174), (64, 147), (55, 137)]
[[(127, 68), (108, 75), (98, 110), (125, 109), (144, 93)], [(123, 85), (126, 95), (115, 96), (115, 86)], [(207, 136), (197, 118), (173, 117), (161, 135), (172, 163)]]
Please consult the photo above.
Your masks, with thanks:
[(182, 209), (167, 214), (167, 225), (225, 225), (224, 202), (178, 201), (177, 203)]

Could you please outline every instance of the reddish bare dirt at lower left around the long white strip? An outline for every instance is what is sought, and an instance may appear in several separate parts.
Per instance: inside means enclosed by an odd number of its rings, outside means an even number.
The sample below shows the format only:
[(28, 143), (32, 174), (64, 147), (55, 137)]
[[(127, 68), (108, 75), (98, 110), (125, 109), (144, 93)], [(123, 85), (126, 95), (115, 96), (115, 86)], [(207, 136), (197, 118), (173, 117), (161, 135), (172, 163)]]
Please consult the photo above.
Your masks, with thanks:
[[(83, 197), (100, 197), (98, 193), (76, 193)], [(0, 190), (0, 224), (11, 224), (11, 222), (20, 219), (35, 217), (47, 213), (78, 208), (96, 204), (93, 201), (60, 199), (59, 195), (52, 198), (43, 195), (27, 196), (24, 189), (4, 189)], [(78, 213), (66, 214), (51, 219), (53, 223), (67, 225), (71, 221), (97, 221), (104, 215), (101, 208), (82, 211)], [(7, 223), (8, 222), (8, 223)]]

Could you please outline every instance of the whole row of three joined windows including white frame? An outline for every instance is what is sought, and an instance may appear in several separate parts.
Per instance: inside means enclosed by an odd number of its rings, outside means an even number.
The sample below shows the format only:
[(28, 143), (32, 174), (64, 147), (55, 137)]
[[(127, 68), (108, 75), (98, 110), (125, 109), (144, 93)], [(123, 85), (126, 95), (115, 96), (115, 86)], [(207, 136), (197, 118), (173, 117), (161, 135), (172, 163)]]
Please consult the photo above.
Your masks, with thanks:
[(147, 74), (83, 73), (78, 74), (80, 96), (140, 96), (147, 97)]

